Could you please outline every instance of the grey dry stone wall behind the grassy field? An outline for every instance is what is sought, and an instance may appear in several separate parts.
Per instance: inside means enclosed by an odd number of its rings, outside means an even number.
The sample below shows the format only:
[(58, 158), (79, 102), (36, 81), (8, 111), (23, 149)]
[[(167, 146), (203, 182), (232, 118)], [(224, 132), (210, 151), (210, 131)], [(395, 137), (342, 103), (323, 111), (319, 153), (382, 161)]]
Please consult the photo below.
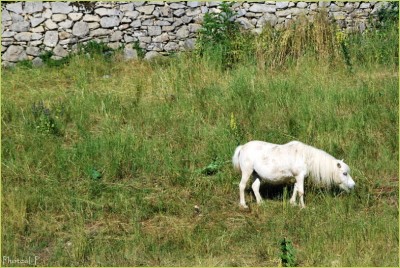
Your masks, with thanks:
[[(21, 60), (41, 64), (39, 55), (52, 51), (60, 59), (78, 43), (94, 40), (111, 48), (125, 47), (126, 58), (137, 57), (137, 42), (146, 58), (193, 49), (196, 32), (207, 12), (221, 12), (221, 2), (2, 2), (2, 65)], [(236, 2), (235, 20), (260, 32), (270, 24), (285, 27), (304, 14), (312, 18), (326, 9), (347, 30), (368, 27), (368, 17), (385, 2)]]

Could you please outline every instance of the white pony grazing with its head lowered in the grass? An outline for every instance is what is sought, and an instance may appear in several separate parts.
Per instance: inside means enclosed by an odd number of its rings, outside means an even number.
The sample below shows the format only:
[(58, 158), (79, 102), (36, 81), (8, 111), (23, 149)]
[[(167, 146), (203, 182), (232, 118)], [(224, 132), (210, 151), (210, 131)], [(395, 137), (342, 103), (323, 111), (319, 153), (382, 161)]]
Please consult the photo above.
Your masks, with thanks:
[(290, 203), (295, 205), (299, 195), (302, 208), (305, 207), (304, 179), (307, 177), (317, 185), (337, 185), (346, 192), (355, 186), (350, 168), (343, 160), (337, 160), (328, 153), (299, 141), (283, 145), (250, 141), (236, 148), (232, 162), (234, 168), (242, 172), (239, 192), (240, 205), (244, 208), (247, 208), (244, 190), (251, 175), (254, 177), (252, 188), (257, 203), (262, 201), (260, 179), (270, 184), (283, 184), (294, 177), (296, 182)]

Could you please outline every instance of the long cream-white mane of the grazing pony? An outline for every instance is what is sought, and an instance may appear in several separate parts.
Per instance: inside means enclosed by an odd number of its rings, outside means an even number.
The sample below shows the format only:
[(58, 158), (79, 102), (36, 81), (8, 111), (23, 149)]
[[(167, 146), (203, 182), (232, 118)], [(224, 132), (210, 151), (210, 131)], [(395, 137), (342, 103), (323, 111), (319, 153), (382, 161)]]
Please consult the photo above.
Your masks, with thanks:
[(301, 142), (298, 142), (296, 148), (305, 158), (309, 180), (316, 185), (330, 187), (336, 179), (336, 158)]

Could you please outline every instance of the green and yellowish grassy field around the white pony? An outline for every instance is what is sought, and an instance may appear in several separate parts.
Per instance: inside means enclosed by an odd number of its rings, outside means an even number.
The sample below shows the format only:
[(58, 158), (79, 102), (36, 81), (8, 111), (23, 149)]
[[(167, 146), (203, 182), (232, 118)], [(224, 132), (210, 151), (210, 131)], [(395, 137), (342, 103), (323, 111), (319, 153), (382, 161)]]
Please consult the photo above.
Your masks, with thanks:
[[(116, 54), (2, 70), (2, 256), (280, 266), (287, 238), (298, 266), (397, 266), (398, 65), (381, 60), (226, 69), (206, 56)], [(344, 158), (357, 188), (306, 186), (300, 210), (290, 187), (265, 186), (264, 204), (249, 190), (242, 210), (230, 159), (253, 139)]]

